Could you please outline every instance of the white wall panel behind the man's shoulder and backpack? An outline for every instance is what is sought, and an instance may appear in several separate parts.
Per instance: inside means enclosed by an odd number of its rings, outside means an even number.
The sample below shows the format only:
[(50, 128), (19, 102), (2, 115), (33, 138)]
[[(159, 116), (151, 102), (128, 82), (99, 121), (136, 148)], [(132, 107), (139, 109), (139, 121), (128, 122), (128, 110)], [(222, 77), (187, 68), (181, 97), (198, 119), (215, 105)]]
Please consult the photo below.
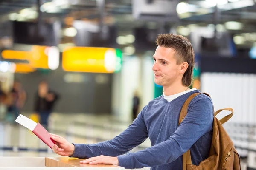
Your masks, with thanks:
[(215, 111), (233, 108), (234, 114), (229, 122), (256, 124), (255, 87), (256, 74), (201, 74), (201, 91), (212, 97)]

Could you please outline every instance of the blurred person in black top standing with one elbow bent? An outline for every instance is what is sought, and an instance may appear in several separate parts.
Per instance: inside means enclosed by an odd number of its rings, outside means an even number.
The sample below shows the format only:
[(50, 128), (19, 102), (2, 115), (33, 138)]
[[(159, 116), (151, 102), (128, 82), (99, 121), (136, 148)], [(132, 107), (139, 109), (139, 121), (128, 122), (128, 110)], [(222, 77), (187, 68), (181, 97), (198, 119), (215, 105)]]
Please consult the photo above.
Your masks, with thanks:
[(40, 123), (48, 128), (48, 119), (59, 95), (50, 91), (46, 81), (38, 85), (38, 91), (35, 94), (34, 111), (40, 115)]

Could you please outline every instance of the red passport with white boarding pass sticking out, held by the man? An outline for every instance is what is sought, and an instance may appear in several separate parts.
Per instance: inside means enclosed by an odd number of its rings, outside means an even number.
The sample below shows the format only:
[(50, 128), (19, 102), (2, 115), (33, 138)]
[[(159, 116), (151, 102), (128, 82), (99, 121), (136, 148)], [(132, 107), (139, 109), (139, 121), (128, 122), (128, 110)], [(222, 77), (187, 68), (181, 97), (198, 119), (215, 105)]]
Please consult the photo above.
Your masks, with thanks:
[(22, 114), (17, 117), (15, 122), (31, 130), (39, 139), (52, 149), (55, 141), (51, 139), (51, 134), (40, 123), (36, 123)]

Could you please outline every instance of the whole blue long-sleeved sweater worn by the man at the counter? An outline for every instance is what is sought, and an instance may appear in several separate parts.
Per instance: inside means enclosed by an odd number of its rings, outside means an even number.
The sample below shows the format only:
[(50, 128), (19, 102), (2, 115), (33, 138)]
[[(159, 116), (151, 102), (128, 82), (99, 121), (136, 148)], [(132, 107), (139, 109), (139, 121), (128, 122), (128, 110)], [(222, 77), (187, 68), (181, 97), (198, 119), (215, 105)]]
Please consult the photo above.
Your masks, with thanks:
[[(119, 166), (129, 169), (182, 170), (182, 155), (191, 148), (192, 164), (198, 165), (208, 157), (212, 141), (213, 105), (209, 96), (196, 96), (178, 126), (184, 102), (197, 92), (183, 94), (171, 102), (163, 96), (150, 101), (119, 136), (96, 144), (74, 144), (73, 157), (117, 156)], [(148, 137), (151, 147), (128, 153)]]

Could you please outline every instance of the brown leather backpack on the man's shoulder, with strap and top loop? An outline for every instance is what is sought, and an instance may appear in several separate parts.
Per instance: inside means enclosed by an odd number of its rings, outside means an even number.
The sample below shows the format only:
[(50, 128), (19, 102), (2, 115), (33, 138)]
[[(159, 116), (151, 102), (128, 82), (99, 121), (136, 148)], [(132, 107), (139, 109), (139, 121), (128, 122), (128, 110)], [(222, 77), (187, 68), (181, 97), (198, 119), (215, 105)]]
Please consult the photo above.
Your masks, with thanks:
[[(180, 112), (179, 125), (187, 114), (189, 103), (198, 94), (200, 93), (192, 94), (184, 103)], [(206, 95), (209, 96), (209, 94)], [(215, 116), (223, 110), (231, 111), (232, 113), (218, 120)], [(232, 116), (232, 108), (224, 108), (215, 112), (209, 157), (196, 166), (192, 164), (190, 150), (188, 150), (183, 154), (183, 170), (241, 170), (239, 154), (234, 147), (233, 141), (222, 126)]]

